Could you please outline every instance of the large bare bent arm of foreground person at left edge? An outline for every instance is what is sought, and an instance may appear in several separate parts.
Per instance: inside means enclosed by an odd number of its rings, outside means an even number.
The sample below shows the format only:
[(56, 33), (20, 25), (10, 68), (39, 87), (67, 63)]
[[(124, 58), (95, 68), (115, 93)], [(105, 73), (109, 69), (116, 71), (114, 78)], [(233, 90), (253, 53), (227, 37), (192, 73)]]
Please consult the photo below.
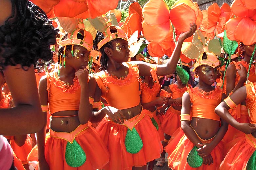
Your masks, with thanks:
[(15, 107), (0, 110), (0, 134), (2, 135), (36, 133), (45, 124), (34, 68), (31, 66), (27, 69), (25, 71), (21, 65), (16, 65), (7, 66), (3, 70)]

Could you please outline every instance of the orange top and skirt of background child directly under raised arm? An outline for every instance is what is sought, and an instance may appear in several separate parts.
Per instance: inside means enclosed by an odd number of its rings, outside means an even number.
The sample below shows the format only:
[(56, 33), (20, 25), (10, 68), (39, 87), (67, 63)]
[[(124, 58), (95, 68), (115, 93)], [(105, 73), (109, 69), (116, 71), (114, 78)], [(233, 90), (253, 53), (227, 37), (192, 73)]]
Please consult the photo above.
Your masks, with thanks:
[[(159, 83), (155, 83), (152, 86), (152, 88), (148, 87), (147, 83), (142, 83), (141, 85), (141, 98), (142, 98), (142, 103), (149, 103), (151, 101), (154, 101), (157, 99), (157, 94), (160, 91), (160, 84)], [(162, 141), (164, 139), (164, 134), (163, 134), (163, 130), (161, 127), (161, 123), (158, 120), (157, 116), (156, 116), (156, 111), (149, 111), (147, 109), (144, 109), (144, 112), (149, 115), (149, 117), (151, 118), (151, 121), (153, 123), (153, 125), (156, 127), (160, 140)]]

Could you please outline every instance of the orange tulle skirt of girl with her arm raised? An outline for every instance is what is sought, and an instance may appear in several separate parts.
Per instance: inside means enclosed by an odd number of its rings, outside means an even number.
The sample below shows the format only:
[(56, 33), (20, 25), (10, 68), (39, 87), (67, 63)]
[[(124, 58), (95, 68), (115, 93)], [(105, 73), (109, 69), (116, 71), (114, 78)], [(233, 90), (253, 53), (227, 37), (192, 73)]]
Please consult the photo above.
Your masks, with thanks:
[(162, 153), (162, 144), (156, 130), (148, 115), (144, 111), (128, 120), (134, 122), (142, 142), (142, 149), (135, 154), (126, 151), (125, 137), (128, 130), (127, 125), (116, 124), (105, 117), (96, 130), (106, 144), (110, 161), (104, 170), (132, 170), (132, 167), (141, 167), (156, 158)]

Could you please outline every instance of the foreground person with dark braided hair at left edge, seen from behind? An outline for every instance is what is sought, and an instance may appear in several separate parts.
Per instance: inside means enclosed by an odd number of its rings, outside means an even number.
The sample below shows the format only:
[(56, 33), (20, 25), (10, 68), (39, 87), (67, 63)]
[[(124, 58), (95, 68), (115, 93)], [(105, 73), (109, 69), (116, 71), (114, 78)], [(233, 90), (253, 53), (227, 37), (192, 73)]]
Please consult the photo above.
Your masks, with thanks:
[[(49, 47), (56, 42), (57, 30), (30, 1), (2, 0), (0, 11), (0, 65), (15, 106), (0, 109), (0, 134), (20, 136), (24, 144), (25, 134), (44, 125), (34, 67), (39, 58), (52, 58)], [(12, 150), (1, 135), (0, 169), (14, 169)]]

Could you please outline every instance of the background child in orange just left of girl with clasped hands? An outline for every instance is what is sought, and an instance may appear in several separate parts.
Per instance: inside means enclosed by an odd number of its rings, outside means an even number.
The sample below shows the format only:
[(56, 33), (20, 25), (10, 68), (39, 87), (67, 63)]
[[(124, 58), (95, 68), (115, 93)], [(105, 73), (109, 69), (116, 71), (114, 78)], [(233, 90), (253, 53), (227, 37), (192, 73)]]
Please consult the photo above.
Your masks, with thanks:
[[(166, 111), (165, 117), (161, 124), (163, 131), (165, 133), (165, 139), (162, 142), (163, 147), (167, 146), (172, 134), (181, 127), (181, 102), (182, 95), (188, 90), (191, 85), (182, 84), (180, 77), (175, 72), (176, 83), (169, 85), (165, 97), (167, 101), (161, 108), (160, 113), (164, 112), (168, 105), (170, 108)], [(157, 161), (157, 166), (163, 166), (165, 163), (165, 151), (162, 152), (160, 159)]]

